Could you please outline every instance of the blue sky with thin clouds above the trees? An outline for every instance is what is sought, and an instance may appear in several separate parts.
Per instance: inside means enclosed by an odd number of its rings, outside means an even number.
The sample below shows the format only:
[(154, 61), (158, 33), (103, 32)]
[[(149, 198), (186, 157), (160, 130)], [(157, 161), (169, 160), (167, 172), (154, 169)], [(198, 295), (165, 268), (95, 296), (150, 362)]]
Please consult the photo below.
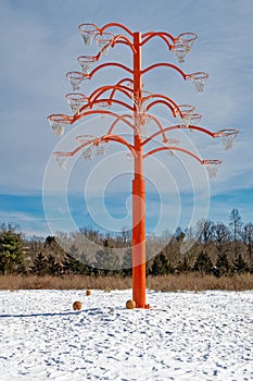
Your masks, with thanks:
[[(240, 130), (229, 151), (217, 139), (181, 133), (180, 142), (202, 158), (223, 160), (214, 182), (201, 165), (180, 156), (161, 155), (147, 163), (148, 232), (186, 228), (199, 218), (227, 223), (232, 208), (239, 209), (244, 222), (253, 221), (251, 0), (2, 0), (0, 222), (15, 222), (27, 235), (42, 236), (84, 225), (110, 232), (131, 224), (131, 163), (125, 151), (110, 147), (106, 157), (91, 162), (76, 158), (67, 174), (58, 171), (52, 159), (59, 147), (74, 148), (73, 134), (103, 131), (106, 122), (97, 118), (78, 124), (62, 140), (47, 122), (51, 113), (71, 114), (65, 74), (79, 70), (76, 58), (94, 49), (83, 44), (77, 30), (86, 22), (98, 26), (118, 22), (132, 30), (174, 36), (197, 33), (199, 39), (185, 63), (178, 64), (156, 40), (143, 49), (143, 64), (167, 61), (187, 73), (205, 71), (210, 75), (205, 91), (195, 94), (190, 83), (164, 70), (154, 71), (144, 86), (195, 106), (203, 114), (201, 125), (211, 131)], [(105, 60), (129, 63), (129, 51), (116, 47)], [(113, 83), (121, 74), (104, 71), (86, 90)], [(81, 90), (86, 91), (84, 85)], [(155, 113), (164, 118), (163, 110)]]

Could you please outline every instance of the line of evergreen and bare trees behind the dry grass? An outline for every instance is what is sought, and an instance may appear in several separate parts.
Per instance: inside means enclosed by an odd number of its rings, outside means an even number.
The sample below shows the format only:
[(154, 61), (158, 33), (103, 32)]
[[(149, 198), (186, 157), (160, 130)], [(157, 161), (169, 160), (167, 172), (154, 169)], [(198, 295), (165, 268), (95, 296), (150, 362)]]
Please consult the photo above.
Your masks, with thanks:
[[(232, 209), (227, 225), (202, 219), (194, 228), (150, 235), (147, 242), (149, 275), (253, 273), (253, 224), (243, 223), (238, 209)], [(188, 249), (182, 250), (182, 245)], [(17, 225), (1, 224), (0, 274), (127, 276), (131, 274), (131, 232), (110, 235), (83, 228), (27, 239)]]

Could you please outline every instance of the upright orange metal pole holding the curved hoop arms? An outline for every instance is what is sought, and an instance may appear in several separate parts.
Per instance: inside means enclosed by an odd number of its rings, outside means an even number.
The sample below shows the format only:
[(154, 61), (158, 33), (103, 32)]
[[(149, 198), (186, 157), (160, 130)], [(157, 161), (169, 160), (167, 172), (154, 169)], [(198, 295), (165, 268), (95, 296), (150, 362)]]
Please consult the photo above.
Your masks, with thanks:
[[(141, 99), (141, 34), (134, 33), (134, 96)], [(137, 107), (135, 105), (135, 112)], [(137, 308), (146, 304), (146, 182), (143, 177), (143, 148), (135, 128), (135, 177), (132, 180), (132, 299)]]

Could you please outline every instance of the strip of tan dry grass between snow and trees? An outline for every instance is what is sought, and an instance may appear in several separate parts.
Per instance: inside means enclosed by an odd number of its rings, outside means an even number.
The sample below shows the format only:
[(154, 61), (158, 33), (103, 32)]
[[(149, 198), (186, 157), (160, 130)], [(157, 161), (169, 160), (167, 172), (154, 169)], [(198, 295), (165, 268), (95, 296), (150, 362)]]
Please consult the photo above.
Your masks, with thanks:
[[(119, 276), (0, 276), (0, 290), (127, 290), (131, 288), (131, 278)], [(167, 276), (148, 276), (147, 288), (175, 291), (253, 290), (253, 274), (215, 278), (213, 275), (178, 274)]]

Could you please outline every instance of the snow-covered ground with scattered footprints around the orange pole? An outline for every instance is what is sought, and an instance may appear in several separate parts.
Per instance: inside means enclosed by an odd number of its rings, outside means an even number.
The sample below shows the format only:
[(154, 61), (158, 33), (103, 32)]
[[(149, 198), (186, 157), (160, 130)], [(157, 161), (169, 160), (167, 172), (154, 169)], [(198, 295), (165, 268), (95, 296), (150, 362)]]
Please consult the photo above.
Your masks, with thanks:
[[(253, 380), (253, 292), (0, 292), (0, 380)], [(73, 302), (83, 309), (73, 311)]]

